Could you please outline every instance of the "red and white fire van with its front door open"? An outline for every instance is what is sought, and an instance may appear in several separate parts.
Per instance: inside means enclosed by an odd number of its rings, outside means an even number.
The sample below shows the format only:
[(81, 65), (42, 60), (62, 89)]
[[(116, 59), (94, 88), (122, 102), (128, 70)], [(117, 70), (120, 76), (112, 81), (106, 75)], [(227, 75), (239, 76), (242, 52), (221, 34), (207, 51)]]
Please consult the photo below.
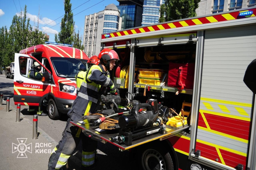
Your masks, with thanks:
[[(53, 120), (58, 119), (61, 113), (67, 114), (76, 99), (75, 75), (87, 60), (82, 50), (51, 42), (15, 53), (15, 105), (47, 107)], [(41, 70), (37, 70), (37, 74), (42, 74), (41, 79), (29, 74), (38, 65), (41, 65)]]

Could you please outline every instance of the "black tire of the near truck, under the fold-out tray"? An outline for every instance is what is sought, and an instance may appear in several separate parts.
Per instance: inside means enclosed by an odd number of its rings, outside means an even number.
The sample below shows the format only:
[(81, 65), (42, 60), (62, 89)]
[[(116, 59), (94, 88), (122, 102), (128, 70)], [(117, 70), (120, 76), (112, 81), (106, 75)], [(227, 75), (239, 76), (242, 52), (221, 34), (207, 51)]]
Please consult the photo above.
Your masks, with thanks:
[(138, 166), (144, 170), (174, 170), (172, 157), (167, 147), (160, 142), (142, 145), (137, 154)]

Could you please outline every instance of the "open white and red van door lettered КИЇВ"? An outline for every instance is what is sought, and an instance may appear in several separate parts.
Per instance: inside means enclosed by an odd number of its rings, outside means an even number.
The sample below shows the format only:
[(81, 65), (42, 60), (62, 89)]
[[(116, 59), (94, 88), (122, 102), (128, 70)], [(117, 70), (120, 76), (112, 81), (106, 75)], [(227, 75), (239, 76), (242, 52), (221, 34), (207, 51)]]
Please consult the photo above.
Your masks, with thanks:
[[(41, 106), (47, 99), (51, 83), (42, 82), (42, 70), (45, 68), (36, 58), (26, 54), (15, 53), (14, 96), (15, 105)], [(44, 69), (43, 69), (44, 68)]]

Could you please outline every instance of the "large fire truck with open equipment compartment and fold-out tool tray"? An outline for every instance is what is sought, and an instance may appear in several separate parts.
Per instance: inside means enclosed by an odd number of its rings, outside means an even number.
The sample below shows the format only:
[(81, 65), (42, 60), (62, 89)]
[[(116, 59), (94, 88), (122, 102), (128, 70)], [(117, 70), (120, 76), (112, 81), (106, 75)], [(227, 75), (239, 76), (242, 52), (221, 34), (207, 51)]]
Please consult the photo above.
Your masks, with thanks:
[(187, 124), (124, 143), (133, 134), (72, 123), (121, 151), (134, 148), (141, 169), (255, 170), (255, 94), (243, 82), (256, 58), (255, 15), (254, 6), (102, 34), (101, 47), (120, 58), (110, 75), (121, 98), (183, 109)]

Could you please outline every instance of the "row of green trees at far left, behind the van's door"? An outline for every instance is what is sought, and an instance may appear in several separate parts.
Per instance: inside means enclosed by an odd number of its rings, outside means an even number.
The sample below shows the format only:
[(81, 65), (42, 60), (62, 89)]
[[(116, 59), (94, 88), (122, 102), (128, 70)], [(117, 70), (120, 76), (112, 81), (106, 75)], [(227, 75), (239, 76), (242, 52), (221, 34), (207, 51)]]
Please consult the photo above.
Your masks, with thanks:
[(9, 32), (4, 26), (0, 29), (0, 66), (9, 66), (14, 61), (14, 53), (19, 53), (20, 50), (44, 44), (44, 33), (39, 28), (39, 13), (37, 26), (32, 27), (27, 18), (27, 6), (25, 5), (24, 12), (20, 12), (19, 16), (14, 15), (12, 25)]

